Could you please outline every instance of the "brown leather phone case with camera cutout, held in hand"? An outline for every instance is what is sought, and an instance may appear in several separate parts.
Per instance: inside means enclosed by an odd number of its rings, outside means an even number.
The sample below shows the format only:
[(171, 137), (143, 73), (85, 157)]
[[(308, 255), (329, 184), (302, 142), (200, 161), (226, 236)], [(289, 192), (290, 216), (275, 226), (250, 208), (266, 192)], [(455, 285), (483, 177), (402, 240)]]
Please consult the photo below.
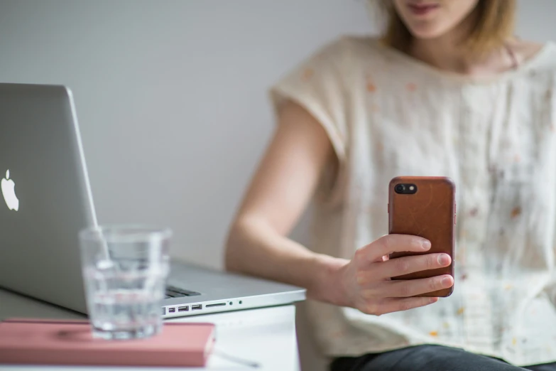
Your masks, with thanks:
[[(400, 191), (402, 185), (404, 191)], [(410, 190), (412, 185), (415, 188)], [(431, 248), (427, 252), (395, 252), (390, 259), (437, 252), (452, 257), (452, 264), (448, 267), (392, 279), (423, 279), (441, 274), (454, 276), (455, 189), (454, 182), (445, 177), (401, 176), (392, 179), (388, 190), (388, 233), (426, 238)], [(418, 296), (446, 297), (453, 291), (454, 286)]]

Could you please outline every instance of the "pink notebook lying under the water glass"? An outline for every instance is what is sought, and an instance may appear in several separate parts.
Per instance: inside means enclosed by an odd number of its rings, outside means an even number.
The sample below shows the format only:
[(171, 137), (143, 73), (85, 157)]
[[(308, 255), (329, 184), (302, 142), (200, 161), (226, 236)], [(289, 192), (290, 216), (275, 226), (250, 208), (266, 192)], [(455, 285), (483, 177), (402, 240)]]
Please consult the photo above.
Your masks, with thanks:
[(151, 338), (102, 340), (88, 321), (0, 322), (0, 364), (202, 367), (213, 345), (212, 323), (170, 322)]

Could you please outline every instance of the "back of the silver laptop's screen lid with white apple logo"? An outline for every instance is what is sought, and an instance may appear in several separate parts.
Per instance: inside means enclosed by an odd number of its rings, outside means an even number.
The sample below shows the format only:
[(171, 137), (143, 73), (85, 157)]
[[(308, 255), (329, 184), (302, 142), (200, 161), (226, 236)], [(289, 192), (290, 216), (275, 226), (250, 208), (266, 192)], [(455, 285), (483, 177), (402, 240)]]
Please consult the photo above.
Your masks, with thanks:
[(70, 90), (0, 84), (0, 286), (86, 312), (78, 232), (96, 224)]

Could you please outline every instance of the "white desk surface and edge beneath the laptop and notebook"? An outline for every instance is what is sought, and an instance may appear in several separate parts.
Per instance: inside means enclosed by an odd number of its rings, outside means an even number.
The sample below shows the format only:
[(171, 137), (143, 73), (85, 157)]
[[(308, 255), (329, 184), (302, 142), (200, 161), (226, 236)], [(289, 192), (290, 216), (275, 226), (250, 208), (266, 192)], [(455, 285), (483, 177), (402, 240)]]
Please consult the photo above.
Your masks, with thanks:
[[(28, 299), (0, 289), (0, 320), (8, 317), (83, 318), (79, 313), (66, 311), (40, 301)], [(280, 370), (298, 371), (298, 341), (295, 334), (295, 306), (251, 309), (227, 313), (207, 314), (168, 321), (212, 322), (217, 326), (214, 353), (205, 368), (183, 370)], [(258, 363), (249, 367), (228, 356)], [(98, 367), (37, 367), (0, 365), (0, 370), (98, 370)], [(133, 370), (133, 367), (102, 367), (103, 371)], [(173, 368), (137, 367), (135, 370), (177, 370)]]

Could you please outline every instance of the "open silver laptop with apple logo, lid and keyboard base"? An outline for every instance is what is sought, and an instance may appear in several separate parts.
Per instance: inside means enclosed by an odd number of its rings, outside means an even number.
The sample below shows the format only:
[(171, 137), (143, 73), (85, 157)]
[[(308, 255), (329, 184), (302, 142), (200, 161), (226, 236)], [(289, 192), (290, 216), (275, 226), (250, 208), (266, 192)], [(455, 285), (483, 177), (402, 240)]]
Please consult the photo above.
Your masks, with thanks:
[[(0, 84), (0, 287), (87, 313), (78, 232), (97, 225), (72, 94)], [(278, 306), (305, 290), (171, 263), (165, 318)]]

